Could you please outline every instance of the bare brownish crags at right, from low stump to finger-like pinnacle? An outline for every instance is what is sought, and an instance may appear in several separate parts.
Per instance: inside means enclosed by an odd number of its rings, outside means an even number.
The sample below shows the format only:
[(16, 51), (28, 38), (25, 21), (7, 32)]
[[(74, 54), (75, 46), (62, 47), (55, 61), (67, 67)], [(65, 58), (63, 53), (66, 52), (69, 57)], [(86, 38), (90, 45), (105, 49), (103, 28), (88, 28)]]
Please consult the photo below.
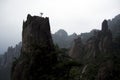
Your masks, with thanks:
[(75, 44), (71, 48), (70, 56), (78, 60), (83, 58), (82, 55), (85, 55), (85, 59), (89, 59), (95, 58), (99, 53), (109, 53), (112, 48), (112, 33), (108, 29), (107, 20), (103, 21), (101, 31), (94, 31), (93, 36), (86, 41), (86, 44), (83, 44), (80, 39), (74, 42)]

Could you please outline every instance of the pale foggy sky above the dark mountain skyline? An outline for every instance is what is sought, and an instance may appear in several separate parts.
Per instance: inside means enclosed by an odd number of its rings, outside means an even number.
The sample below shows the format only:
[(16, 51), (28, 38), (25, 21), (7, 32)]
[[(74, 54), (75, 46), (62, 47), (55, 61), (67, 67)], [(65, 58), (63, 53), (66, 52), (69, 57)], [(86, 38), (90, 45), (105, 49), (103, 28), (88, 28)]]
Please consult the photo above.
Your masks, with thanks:
[(27, 14), (50, 18), (52, 33), (65, 29), (69, 34), (100, 29), (104, 19), (120, 13), (120, 0), (0, 0), (0, 53), (21, 41), (22, 23)]

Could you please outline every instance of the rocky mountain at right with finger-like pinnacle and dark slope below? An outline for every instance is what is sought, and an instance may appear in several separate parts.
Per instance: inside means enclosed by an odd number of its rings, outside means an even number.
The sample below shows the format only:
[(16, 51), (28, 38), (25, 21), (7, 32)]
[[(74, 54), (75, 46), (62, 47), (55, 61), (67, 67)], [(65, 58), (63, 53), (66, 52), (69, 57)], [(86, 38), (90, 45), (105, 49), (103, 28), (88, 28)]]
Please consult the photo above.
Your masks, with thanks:
[(80, 71), (82, 80), (119, 80), (119, 40), (120, 36), (112, 37), (108, 21), (104, 20), (102, 29), (95, 31), (85, 44), (81, 38), (74, 41), (69, 55), (83, 64)]

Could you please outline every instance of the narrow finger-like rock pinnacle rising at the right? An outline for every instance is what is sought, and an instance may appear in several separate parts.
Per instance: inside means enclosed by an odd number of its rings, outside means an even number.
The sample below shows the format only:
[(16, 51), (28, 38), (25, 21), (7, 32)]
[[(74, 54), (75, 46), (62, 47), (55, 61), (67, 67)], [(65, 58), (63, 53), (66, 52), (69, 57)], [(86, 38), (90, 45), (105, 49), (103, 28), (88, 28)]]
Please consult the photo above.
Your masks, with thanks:
[(112, 48), (112, 33), (108, 29), (107, 20), (102, 23), (102, 31), (100, 32), (99, 49), (103, 53), (109, 53)]

